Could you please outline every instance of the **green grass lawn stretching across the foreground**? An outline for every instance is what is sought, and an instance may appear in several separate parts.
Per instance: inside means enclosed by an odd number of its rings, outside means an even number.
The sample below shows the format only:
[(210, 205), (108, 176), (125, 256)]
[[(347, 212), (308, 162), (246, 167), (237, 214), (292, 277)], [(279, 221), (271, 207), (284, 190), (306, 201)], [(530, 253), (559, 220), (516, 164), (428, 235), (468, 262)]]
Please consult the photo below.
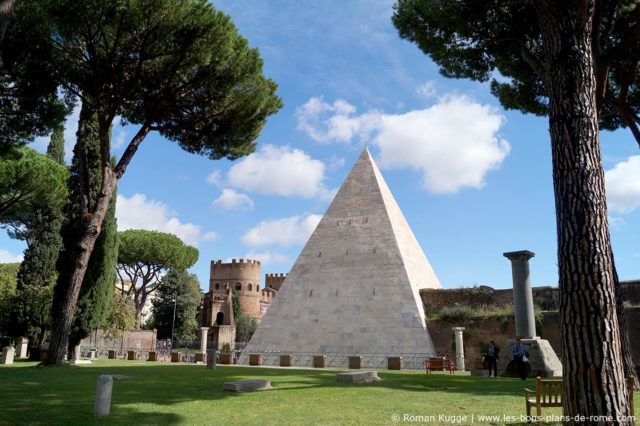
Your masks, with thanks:
[[(111, 415), (94, 419), (96, 379), (101, 374), (133, 376), (114, 382)], [(59, 368), (18, 362), (0, 367), (0, 425), (5, 424), (503, 424), (503, 416), (525, 414), (522, 389), (534, 380), (471, 377), (424, 372), (380, 371), (366, 385), (336, 383), (336, 370), (301, 370), (144, 361), (95, 361)], [(225, 381), (263, 378), (267, 391), (222, 392)], [(636, 400), (637, 403), (637, 400)], [(543, 415), (560, 409), (547, 409)], [(419, 422), (409, 416), (435, 416)], [(439, 415), (467, 416), (438, 421)], [(480, 421), (479, 416), (500, 416)], [(427, 417), (425, 417), (427, 418)], [(411, 420), (414, 420), (413, 422)], [(461, 422), (460, 422), (461, 421)], [(509, 422), (507, 422), (509, 423)], [(397, 424), (397, 423), (396, 423)], [(512, 423), (513, 424), (513, 423)]]

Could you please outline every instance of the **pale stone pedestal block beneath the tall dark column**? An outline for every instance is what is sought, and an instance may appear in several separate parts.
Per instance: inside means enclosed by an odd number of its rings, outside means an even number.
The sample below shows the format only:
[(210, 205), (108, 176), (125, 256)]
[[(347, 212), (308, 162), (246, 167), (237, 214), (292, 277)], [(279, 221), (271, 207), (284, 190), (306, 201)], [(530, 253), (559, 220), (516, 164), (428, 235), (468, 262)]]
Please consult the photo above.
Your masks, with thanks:
[[(529, 377), (557, 377), (562, 376), (562, 363), (553, 351), (548, 340), (534, 338), (521, 339), (522, 344), (529, 352)], [(515, 344), (515, 339), (509, 339), (500, 349), (500, 359), (498, 360), (498, 375), (507, 377), (518, 377), (515, 362), (511, 355), (511, 347)]]

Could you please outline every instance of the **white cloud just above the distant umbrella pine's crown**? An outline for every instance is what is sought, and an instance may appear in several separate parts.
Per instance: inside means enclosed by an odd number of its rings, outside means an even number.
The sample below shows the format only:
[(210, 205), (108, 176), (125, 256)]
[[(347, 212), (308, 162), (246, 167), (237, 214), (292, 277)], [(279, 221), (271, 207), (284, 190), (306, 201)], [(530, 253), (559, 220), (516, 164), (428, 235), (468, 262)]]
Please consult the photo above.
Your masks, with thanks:
[(118, 195), (116, 217), (119, 231), (147, 229), (168, 232), (178, 236), (185, 244), (194, 246), (217, 237), (214, 232), (203, 233), (199, 225), (182, 223), (166, 204), (147, 199), (144, 194), (134, 194), (129, 198)]

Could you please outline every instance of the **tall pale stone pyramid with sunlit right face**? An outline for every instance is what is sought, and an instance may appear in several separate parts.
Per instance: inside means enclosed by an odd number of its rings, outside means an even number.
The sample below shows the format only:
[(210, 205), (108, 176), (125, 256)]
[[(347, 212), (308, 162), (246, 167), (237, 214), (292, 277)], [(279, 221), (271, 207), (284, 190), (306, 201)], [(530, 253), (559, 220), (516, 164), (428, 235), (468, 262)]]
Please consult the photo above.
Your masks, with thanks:
[(421, 288), (440, 282), (365, 148), (243, 353), (435, 355)]

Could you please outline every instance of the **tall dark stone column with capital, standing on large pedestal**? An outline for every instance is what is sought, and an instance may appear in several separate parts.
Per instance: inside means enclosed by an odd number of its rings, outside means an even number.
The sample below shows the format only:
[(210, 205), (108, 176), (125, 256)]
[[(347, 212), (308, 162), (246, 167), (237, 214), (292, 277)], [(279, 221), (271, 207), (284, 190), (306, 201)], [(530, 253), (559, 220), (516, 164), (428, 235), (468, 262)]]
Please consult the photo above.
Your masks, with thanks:
[(511, 260), (513, 274), (513, 308), (516, 315), (516, 336), (524, 339), (536, 337), (536, 319), (529, 277), (529, 259), (534, 253), (522, 250), (504, 253)]

